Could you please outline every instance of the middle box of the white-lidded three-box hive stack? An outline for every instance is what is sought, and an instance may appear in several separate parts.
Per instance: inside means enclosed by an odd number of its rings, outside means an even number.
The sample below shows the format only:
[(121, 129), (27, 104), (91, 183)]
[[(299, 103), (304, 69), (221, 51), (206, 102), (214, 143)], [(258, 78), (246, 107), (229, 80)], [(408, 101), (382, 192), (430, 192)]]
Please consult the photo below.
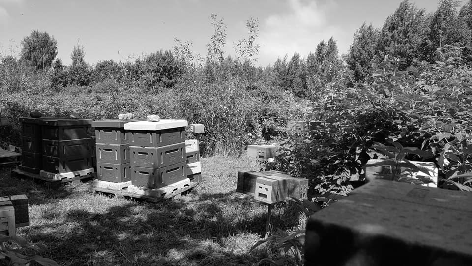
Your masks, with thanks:
[(130, 146), (131, 166), (161, 168), (185, 162), (185, 142), (158, 148)]

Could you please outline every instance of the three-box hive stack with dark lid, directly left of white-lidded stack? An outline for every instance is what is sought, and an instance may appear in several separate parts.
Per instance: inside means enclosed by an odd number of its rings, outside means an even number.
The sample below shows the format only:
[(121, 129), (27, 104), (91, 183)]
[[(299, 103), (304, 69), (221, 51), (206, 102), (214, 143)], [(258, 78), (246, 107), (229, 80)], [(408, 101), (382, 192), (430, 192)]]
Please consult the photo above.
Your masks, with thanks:
[(107, 119), (92, 122), (95, 128), (97, 178), (108, 182), (131, 181), (128, 136), (124, 124), (143, 119)]

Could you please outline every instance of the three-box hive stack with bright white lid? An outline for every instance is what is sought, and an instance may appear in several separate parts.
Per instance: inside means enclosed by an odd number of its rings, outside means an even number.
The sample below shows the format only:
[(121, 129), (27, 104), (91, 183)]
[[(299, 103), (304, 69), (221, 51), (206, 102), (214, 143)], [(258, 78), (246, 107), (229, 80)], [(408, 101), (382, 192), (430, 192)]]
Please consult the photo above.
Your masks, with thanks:
[(161, 119), (124, 124), (131, 165), (131, 184), (162, 188), (187, 179), (186, 120)]

